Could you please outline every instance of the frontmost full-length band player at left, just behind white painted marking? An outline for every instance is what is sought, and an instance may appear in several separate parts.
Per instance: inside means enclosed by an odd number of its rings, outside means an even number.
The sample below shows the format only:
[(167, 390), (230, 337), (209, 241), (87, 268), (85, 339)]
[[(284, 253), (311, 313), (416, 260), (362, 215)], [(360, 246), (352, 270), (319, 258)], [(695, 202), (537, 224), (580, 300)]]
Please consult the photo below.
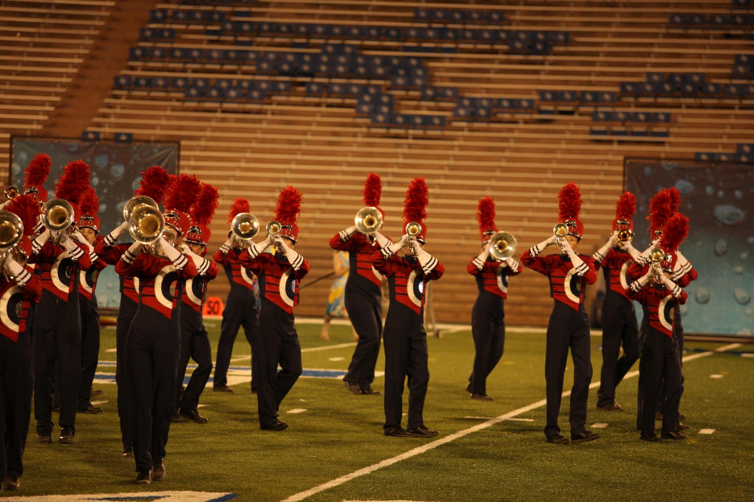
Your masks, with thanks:
[(176, 399), (180, 355), (181, 280), (197, 274), (194, 261), (177, 247), (189, 228), (186, 211), (198, 189), (195, 176), (176, 176), (165, 200), (164, 230), (155, 243), (155, 254), (145, 252), (137, 241), (115, 265), (115, 272), (138, 277), (141, 291), (126, 337), (124, 358), (138, 484), (165, 477), (165, 445), (170, 432), (170, 409)]

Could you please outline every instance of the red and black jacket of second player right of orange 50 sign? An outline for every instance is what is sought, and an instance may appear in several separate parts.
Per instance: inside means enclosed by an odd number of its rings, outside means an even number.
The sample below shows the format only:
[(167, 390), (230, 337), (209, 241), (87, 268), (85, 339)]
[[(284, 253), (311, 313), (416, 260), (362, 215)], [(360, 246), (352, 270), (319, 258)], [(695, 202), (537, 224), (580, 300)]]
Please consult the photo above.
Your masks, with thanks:
[(299, 255), (299, 268), (294, 269), (284, 254), (262, 252), (251, 257), (252, 252), (253, 247), (241, 253), (241, 264), (259, 278), (259, 297), (293, 314), (299, 304), (299, 282), (311, 269), (309, 262)]

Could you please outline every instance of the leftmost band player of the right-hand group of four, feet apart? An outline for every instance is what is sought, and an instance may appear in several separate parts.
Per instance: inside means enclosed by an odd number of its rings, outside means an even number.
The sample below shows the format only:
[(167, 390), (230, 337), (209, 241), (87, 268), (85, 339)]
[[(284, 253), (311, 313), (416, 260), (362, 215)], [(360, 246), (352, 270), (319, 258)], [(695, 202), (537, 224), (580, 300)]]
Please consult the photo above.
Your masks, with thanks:
[[(572, 443), (596, 440), (599, 434), (587, 431), (587, 399), (592, 380), (590, 360), (589, 315), (584, 307), (587, 284), (594, 284), (597, 275), (593, 259), (577, 254), (584, 224), (578, 220), (581, 211), (581, 193), (573, 183), (566, 184), (558, 193), (559, 223), (555, 235), (524, 251), (521, 263), (535, 272), (547, 275), (550, 280), (550, 297), (555, 300), (550, 322), (547, 324), (547, 353), (544, 360), (544, 377), (547, 382), (547, 426), (544, 435), (547, 443), (565, 444), (558, 426), (563, 376), (566, 373), (568, 351), (574, 363), (574, 384), (571, 389)], [(565, 227), (565, 228), (564, 228)], [(558, 230), (565, 233), (558, 235)], [(544, 248), (557, 244), (559, 254), (540, 257)]]

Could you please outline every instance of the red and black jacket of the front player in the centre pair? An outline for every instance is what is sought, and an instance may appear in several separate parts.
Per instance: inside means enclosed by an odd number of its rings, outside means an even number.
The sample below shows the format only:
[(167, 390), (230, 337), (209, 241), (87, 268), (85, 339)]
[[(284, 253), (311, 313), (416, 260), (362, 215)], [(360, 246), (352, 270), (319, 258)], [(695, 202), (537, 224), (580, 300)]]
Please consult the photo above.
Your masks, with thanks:
[(421, 315), (425, 303), (425, 290), (429, 281), (443, 276), (445, 267), (434, 258), (422, 267), (414, 257), (397, 257), (389, 248), (372, 254), (372, 266), (388, 278), (390, 301), (398, 302)]

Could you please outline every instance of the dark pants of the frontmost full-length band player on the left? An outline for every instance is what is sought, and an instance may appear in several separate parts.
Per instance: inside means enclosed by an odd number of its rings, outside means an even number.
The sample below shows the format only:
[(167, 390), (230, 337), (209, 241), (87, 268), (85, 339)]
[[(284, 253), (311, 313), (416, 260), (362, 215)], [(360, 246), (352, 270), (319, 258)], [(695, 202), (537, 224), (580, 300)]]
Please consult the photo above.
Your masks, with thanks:
[(136, 470), (165, 458), (179, 355), (179, 307), (168, 319), (139, 305), (126, 339), (124, 375)]

